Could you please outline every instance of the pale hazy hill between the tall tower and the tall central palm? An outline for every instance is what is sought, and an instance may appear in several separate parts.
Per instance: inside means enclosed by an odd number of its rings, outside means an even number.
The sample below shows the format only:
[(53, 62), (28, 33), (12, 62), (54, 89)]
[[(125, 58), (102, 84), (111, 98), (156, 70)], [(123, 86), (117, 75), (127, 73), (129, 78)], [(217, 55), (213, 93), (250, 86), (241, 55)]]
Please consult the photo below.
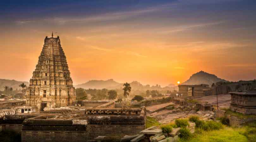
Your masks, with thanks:
[(103, 88), (112, 88), (115, 86), (119, 86), (121, 83), (114, 81), (113, 79), (109, 80), (90, 80), (86, 83), (76, 85), (76, 88), (84, 88), (84, 89), (103, 89)]

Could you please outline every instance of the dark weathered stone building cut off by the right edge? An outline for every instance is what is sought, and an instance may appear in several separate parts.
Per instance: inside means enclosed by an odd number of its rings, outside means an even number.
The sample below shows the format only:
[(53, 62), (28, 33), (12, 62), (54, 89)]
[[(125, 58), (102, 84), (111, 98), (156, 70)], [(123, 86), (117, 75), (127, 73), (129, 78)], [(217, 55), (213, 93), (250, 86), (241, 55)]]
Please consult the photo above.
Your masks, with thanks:
[(256, 115), (256, 91), (229, 92), (230, 109), (245, 115)]

